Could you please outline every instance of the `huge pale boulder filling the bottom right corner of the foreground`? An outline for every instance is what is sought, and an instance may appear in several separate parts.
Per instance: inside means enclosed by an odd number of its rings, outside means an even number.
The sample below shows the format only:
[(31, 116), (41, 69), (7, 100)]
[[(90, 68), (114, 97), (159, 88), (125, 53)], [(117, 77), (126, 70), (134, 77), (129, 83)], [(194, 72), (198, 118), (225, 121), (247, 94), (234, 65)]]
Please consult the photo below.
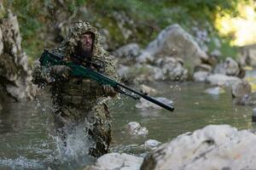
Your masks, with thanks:
[(256, 135), (230, 125), (208, 125), (153, 150), (142, 170), (255, 169)]

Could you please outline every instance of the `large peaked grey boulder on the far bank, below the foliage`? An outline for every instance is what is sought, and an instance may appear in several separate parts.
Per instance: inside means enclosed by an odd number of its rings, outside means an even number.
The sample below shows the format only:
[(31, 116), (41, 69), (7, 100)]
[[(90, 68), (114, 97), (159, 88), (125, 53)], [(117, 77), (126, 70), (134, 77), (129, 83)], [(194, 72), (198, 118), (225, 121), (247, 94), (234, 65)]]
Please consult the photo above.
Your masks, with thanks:
[(162, 56), (181, 58), (184, 60), (184, 65), (191, 66), (191, 71), (195, 65), (201, 64), (201, 60), (209, 59), (193, 37), (177, 24), (167, 26), (165, 30), (160, 31), (158, 37), (148, 44), (137, 61), (142, 62), (144, 55), (158, 58)]

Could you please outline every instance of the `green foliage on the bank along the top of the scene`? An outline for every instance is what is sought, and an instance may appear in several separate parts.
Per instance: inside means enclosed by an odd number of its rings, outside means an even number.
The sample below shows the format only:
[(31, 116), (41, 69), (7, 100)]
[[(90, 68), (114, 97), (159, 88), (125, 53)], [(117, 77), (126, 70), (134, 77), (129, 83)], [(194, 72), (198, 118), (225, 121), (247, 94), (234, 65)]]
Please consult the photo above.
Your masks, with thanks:
[[(85, 15), (86, 20), (100, 23), (102, 28), (108, 29), (113, 44), (119, 46), (126, 42), (139, 42), (143, 46), (154, 39), (166, 26), (178, 23), (187, 31), (197, 23), (213, 23), (216, 14), (237, 14), (237, 3), (247, 0), (63, 0), (67, 13), (72, 15), (80, 7), (85, 7), (90, 12)], [(49, 8), (55, 12), (56, 6), (63, 6), (53, 0), (3, 0), (3, 5), (11, 8), (18, 16), (20, 32), (23, 38), (22, 46), (30, 56), (40, 54), (38, 49), (44, 48), (44, 39), (41, 34), (45, 32), (46, 25), (53, 23), (49, 14)], [(113, 14), (124, 13), (134, 21), (134, 26), (127, 25), (128, 29), (135, 29), (134, 35), (124, 40), (119, 29), (117, 20)], [(88, 18), (86, 18), (88, 17)], [(127, 23), (126, 23), (127, 24)], [(201, 24), (204, 27), (204, 24)], [(212, 28), (214, 28), (212, 24)], [(212, 30), (214, 36), (218, 32)], [(214, 44), (209, 43), (210, 48)], [(116, 47), (116, 46), (114, 46)], [(227, 50), (226, 50), (227, 49)], [(230, 48), (229, 39), (224, 41), (221, 49), (225, 54), (231, 54), (234, 50)], [(235, 50), (236, 53), (236, 50)]]

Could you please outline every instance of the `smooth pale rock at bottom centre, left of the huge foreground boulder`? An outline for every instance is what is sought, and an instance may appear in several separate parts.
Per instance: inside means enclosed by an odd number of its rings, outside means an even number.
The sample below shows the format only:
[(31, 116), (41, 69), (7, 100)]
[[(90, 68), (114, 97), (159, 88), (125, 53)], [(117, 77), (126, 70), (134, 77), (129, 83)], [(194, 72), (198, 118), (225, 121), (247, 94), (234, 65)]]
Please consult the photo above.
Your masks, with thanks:
[(99, 157), (94, 165), (84, 167), (83, 170), (139, 170), (142, 163), (142, 157), (110, 153)]

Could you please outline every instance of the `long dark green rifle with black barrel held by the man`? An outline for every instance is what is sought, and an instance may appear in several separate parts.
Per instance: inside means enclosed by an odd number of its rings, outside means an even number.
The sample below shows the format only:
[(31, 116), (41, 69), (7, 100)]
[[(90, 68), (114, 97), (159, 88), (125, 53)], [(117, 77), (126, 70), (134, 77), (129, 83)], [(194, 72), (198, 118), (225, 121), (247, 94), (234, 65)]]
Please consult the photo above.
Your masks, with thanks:
[[(44, 49), (44, 53), (42, 54), (40, 58), (41, 65), (67, 65), (72, 68), (71, 75), (73, 76), (79, 76), (79, 77), (87, 77), (92, 80), (95, 80), (96, 82), (100, 84), (108, 84), (113, 87), (113, 89), (120, 94), (125, 94), (133, 99), (140, 99), (132, 94), (127, 94), (125, 91), (129, 91), (130, 93), (137, 94), (138, 96), (142, 97), (143, 99), (147, 99), (148, 101), (154, 103), (155, 105), (159, 105), (160, 107), (165, 108), (168, 111), (174, 111), (174, 107), (172, 105), (167, 105), (163, 102), (161, 102), (158, 99), (155, 99), (148, 94), (143, 94), (141, 92), (138, 92), (132, 88), (129, 88), (125, 86), (124, 84), (121, 84), (119, 82), (115, 82), (109, 77), (106, 77), (105, 75), (93, 71), (90, 68), (84, 67), (83, 65), (75, 65), (72, 61), (64, 61), (62, 60), (62, 57), (58, 54), (49, 52), (48, 50)], [(125, 91), (123, 90), (125, 89)]]

